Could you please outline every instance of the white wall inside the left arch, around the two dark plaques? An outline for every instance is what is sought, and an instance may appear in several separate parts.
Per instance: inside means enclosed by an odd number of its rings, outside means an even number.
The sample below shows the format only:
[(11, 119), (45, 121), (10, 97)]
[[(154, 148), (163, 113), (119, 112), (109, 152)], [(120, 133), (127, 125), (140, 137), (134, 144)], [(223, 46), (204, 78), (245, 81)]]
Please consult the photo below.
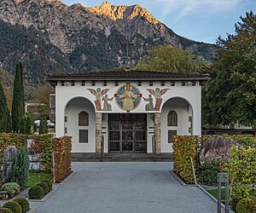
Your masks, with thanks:
[[(79, 112), (89, 113), (89, 126), (79, 126)], [(67, 104), (66, 114), (67, 135), (72, 136), (73, 153), (95, 153), (96, 152), (96, 116), (90, 101), (84, 98), (75, 98)], [(88, 143), (79, 143), (79, 130), (88, 130)]]

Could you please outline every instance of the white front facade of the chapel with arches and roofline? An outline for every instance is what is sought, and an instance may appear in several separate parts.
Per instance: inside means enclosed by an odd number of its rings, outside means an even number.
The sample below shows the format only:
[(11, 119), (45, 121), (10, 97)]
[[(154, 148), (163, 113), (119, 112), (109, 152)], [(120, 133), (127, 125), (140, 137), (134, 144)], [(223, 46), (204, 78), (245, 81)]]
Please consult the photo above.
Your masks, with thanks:
[[(73, 83), (71, 83), (73, 82)], [(168, 130), (176, 131), (177, 135), (201, 135), (201, 83), (200, 80), (181, 81), (154, 80), (141, 81), (125, 79), (119, 80), (55, 80), (55, 132), (56, 136), (69, 135), (73, 137), (73, 153), (96, 153), (96, 113), (102, 113), (102, 135), (104, 136), (104, 153), (110, 152), (109, 114), (146, 114), (146, 153), (152, 153), (152, 135), (154, 135), (154, 113), (160, 113), (160, 152), (172, 153), (172, 142), (168, 139)], [(120, 88), (124, 91), (125, 85), (137, 89), (137, 100), (134, 108), (127, 110), (124, 105), (124, 95), (120, 95)], [(153, 84), (153, 85), (152, 85)], [(147, 98), (151, 93), (153, 106), (156, 106), (155, 90), (162, 92), (160, 108), (147, 108)], [(108, 110), (104, 110), (104, 95), (96, 97), (96, 91), (103, 91), (108, 95)], [(104, 90), (105, 89), (105, 90)], [(125, 88), (126, 89), (126, 88)], [(151, 90), (150, 90), (151, 89)], [(106, 92), (107, 91), (107, 92)], [(151, 91), (151, 92), (150, 92)], [(153, 95), (154, 94), (154, 95)], [(121, 107), (118, 103), (121, 100)], [(132, 99), (132, 97), (130, 97)], [(134, 99), (134, 98), (133, 98)], [(98, 103), (96, 103), (98, 100)], [(100, 100), (100, 101), (99, 101)], [(128, 99), (127, 99), (128, 100)], [(129, 104), (129, 102), (128, 102)], [(96, 106), (97, 105), (97, 106)], [(136, 105), (136, 106), (135, 106)], [(99, 106), (101, 110), (99, 110)], [(168, 113), (177, 113), (177, 126), (167, 124)], [(88, 126), (79, 126), (79, 112), (89, 114)], [(79, 142), (79, 130), (88, 130), (88, 142)], [(121, 139), (120, 139), (121, 140)], [(168, 141), (169, 140), (169, 141)]]

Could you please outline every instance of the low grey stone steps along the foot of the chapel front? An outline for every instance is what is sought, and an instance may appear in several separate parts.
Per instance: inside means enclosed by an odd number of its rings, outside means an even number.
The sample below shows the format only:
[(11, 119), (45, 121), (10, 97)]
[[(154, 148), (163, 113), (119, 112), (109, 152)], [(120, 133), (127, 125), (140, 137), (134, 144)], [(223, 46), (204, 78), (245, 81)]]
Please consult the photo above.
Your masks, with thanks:
[[(72, 153), (73, 162), (97, 162), (100, 161), (101, 154), (98, 153)], [(155, 161), (169, 161), (172, 162), (172, 153), (156, 154)], [(154, 161), (154, 154), (152, 153), (103, 153), (102, 161)]]

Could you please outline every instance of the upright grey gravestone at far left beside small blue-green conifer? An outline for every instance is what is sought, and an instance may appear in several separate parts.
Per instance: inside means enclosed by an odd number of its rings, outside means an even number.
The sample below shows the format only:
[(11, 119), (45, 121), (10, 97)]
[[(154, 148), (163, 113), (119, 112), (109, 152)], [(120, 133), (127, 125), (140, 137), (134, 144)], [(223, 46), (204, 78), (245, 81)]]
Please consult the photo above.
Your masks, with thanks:
[(7, 147), (7, 149), (3, 150), (3, 182), (8, 181), (8, 173), (12, 167), (12, 161), (17, 153), (17, 149), (15, 146)]

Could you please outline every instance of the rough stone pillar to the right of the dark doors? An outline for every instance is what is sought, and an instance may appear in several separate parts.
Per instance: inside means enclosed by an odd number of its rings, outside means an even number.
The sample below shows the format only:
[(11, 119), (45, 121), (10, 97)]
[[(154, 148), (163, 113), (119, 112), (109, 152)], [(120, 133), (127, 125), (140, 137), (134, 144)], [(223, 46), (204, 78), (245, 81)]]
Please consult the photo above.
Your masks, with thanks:
[(161, 153), (161, 113), (154, 113), (155, 153)]

